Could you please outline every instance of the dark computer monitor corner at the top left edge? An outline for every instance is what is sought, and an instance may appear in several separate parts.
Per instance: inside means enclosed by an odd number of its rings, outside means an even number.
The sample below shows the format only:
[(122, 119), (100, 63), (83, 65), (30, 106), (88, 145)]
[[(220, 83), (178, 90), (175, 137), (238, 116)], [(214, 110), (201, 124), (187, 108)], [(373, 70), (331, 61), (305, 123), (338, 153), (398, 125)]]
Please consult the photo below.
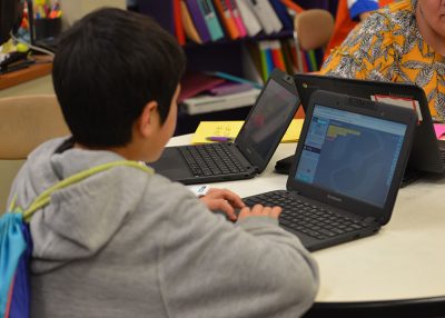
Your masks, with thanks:
[(23, 0), (0, 0), (0, 44), (9, 40), (10, 32), (20, 27)]

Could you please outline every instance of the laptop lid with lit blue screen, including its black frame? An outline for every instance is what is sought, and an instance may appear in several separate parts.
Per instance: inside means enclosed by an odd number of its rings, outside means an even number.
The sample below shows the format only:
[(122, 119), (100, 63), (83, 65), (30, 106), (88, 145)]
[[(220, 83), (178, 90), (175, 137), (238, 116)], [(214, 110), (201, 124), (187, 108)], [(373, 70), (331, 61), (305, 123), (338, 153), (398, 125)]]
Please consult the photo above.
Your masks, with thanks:
[(416, 121), (407, 108), (315, 91), (287, 189), (385, 225)]

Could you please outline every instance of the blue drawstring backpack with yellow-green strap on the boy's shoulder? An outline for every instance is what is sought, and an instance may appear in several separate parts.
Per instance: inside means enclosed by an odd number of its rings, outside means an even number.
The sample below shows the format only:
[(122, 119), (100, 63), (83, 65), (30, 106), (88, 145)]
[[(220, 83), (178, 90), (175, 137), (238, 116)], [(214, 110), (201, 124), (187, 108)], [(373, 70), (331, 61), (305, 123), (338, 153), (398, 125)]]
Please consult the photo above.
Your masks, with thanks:
[(29, 221), (34, 211), (51, 201), (51, 195), (92, 175), (117, 166), (128, 166), (152, 173), (152, 169), (136, 161), (112, 161), (80, 171), (39, 195), (22, 210), (12, 200), (8, 211), (0, 218), (0, 318), (30, 316), (30, 260), (32, 237)]

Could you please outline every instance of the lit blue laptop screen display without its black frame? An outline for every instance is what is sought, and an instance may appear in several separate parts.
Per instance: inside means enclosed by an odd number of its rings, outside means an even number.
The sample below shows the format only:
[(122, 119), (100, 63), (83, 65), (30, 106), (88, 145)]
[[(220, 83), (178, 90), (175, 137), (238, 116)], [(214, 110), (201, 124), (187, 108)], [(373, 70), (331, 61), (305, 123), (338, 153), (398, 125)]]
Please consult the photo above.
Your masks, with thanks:
[(406, 125), (316, 105), (295, 179), (383, 207)]

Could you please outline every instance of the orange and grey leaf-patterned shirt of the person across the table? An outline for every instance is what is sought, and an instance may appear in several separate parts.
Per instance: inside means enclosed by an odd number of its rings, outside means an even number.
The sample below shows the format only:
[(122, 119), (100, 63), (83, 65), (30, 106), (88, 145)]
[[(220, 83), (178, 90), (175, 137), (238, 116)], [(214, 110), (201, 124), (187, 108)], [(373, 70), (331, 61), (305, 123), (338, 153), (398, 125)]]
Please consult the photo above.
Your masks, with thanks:
[(417, 0), (402, 0), (376, 11), (332, 51), (320, 73), (416, 83), (433, 119), (445, 122), (445, 58), (418, 32), (416, 6)]

